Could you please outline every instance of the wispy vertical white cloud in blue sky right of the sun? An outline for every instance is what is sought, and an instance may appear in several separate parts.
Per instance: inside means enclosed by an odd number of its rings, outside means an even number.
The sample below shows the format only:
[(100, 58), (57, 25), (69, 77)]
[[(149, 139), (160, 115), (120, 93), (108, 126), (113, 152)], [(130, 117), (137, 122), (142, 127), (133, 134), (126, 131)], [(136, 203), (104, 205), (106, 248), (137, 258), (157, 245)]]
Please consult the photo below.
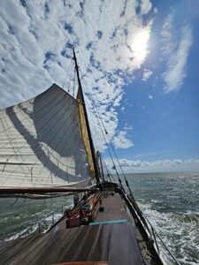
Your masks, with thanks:
[(187, 23), (182, 27), (174, 27), (175, 13), (165, 18), (162, 28), (162, 52), (166, 64), (163, 79), (165, 93), (180, 89), (185, 79), (188, 54), (193, 43), (192, 29)]

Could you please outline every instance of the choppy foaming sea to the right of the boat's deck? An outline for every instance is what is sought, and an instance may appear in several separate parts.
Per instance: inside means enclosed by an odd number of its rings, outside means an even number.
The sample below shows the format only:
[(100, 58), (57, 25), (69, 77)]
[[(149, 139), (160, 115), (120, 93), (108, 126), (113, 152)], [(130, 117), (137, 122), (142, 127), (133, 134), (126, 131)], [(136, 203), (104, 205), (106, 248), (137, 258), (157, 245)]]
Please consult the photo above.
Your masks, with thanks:
[(182, 264), (199, 264), (199, 173), (128, 174), (144, 214)]

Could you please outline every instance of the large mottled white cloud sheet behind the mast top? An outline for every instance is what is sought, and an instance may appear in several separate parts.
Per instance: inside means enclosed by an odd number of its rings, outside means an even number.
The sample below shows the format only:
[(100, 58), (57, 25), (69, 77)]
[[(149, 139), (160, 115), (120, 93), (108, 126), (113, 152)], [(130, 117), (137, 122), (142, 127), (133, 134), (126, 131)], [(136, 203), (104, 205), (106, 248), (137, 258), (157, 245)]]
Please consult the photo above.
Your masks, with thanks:
[[(151, 9), (142, 1), (142, 14)], [(112, 12), (114, 10), (114, 12)], [(132, 43), (137, 34), (146, 40), (151, 20), (136, 13), (136, 1), (1, 1), (0, 9), (0, 107), (15, 104), (40, 94), (52, 82), (60, 87), (71, 64), (72, 43), (78, 51), (82, 85), (91, 91), (108, 131), (114, 137), (119, 123), (116, 108), (123, 96), (125, 80), (143, 64), (148, 51), (138, 57)], [(110, 16), (111, 14), (111, 16)], [(143, 23), (144, 22), (144, 23)], [(130, 77), (130, 78), (128, 78)], [(65, 89), (69, 88), (69, 81)], [(88, 117), (96, 146), (104, 148), (96, 114), (86, 96)], [(95, 137), (97, 135), (97, 137)], [(119, 134), (123, 148), (131, 146), (126, 133)], [(119, 145), (118, 145), (119, 146)]]

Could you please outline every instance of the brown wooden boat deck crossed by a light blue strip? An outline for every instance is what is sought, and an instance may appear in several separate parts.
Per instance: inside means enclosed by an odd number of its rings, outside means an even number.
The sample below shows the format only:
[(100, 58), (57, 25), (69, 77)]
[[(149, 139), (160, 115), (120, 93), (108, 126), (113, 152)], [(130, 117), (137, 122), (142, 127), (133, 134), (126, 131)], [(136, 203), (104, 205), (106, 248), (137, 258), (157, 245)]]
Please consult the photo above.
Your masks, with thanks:
[(69, 261), (143, 264), (120, 196), (104, 198), (102, 206), (104, 211), (98, 212), (94, 225), (65, 229), (64, 220), (46, 234), (5, 242), (0, 246), (0, 264), (49, 265)]

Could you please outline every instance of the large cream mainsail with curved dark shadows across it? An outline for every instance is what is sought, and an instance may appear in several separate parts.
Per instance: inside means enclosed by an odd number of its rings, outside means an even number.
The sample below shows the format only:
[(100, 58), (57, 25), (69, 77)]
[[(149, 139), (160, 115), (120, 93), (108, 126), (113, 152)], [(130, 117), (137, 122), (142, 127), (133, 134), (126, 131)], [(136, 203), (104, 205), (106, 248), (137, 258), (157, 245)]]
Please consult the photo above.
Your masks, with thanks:
[(0, 110), (0, 186), (87, 186), (89, 172), (79, 102), (65, 90)]

